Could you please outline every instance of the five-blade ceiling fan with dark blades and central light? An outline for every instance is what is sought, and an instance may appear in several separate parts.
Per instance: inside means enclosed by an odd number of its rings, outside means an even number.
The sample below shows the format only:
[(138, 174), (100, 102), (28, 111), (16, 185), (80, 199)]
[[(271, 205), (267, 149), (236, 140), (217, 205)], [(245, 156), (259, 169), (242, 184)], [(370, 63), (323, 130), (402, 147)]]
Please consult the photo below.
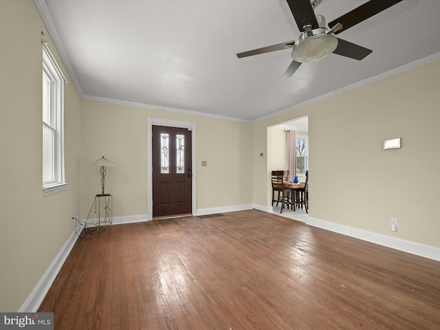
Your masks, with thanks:
[(331, 21), (329, 23), (331, 30), (329, 31), (327, 31), (325, 17), (316, 15), (314, 12), (314, 9), (322, 0), (286, 1), (294, 15), (298, 29), (302, 32), (298, 40), (236, 54), (238, 58), (242, 58), (292, 48), (292, 58), (294, 61), (287, 68), (283, 79), (291, 77), (302, 63), (318, 61), (331, 53), (354, 58), (358, 61), (362, 60), (373, 51), (337, 38), (335, 34), (339, 34), (353, 25), (369, 19), (402, 0), (370, 0), (338, 19)]

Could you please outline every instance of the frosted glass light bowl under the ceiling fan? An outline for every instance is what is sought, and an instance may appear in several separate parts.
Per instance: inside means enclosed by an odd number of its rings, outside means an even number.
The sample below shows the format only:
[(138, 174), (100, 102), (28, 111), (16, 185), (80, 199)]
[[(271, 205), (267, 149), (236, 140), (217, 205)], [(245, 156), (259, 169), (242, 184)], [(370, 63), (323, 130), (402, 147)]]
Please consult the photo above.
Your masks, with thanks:
[(333, 53), (338, 47), (338, 39), (332, 34), (316, 34), (300, 39), (292, 49), (292, 58), (296, 62), (319, 61)]

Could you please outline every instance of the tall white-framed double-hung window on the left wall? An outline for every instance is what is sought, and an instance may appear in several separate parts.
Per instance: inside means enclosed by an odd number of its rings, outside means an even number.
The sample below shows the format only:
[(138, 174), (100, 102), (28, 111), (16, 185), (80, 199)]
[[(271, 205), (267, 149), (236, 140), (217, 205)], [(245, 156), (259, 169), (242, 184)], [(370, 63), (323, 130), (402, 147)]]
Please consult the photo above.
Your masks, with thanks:
[(64, 79), (43, 48), (43, 195), (64, 190)]

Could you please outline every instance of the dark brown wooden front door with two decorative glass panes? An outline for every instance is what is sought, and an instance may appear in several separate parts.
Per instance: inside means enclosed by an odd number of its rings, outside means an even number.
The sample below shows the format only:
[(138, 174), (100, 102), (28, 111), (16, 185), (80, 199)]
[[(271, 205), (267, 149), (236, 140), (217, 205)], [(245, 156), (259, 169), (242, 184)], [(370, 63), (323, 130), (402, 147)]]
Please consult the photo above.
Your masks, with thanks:
[(152, 128), (153, 217), (191, 214), (191, 131)]

